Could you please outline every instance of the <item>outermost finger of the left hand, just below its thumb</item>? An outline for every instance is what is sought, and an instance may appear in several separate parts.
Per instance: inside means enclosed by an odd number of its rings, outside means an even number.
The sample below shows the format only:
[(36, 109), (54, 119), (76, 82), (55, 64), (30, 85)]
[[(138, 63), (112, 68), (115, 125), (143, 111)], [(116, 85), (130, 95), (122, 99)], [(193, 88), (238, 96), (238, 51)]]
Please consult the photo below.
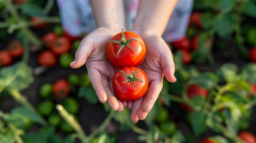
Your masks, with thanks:
[(101, 103), (105, 103), (107, 101), (107, 93), (103, 86), (103, 82), (101, 79), (101, 74), (95, 68), (88, 69), (88, 77), (92, 83), (92, 87), (94, 88), (97, 97)]

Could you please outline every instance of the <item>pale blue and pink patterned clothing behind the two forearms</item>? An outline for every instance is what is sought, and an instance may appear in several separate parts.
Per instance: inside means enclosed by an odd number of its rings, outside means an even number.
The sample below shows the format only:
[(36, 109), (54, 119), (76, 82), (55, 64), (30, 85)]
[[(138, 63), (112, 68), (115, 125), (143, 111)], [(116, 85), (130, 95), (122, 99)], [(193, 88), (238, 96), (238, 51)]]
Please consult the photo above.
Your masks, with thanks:
[[(124, 0), (126, 26), (132, 29), (139, 0)], [(73, 36), (96, 29), (89, 0), (57, 0), (63, 29)], [(181, 39), (186, 34), (193, 0), (179, 0), (162, 35), (167, 42)]]

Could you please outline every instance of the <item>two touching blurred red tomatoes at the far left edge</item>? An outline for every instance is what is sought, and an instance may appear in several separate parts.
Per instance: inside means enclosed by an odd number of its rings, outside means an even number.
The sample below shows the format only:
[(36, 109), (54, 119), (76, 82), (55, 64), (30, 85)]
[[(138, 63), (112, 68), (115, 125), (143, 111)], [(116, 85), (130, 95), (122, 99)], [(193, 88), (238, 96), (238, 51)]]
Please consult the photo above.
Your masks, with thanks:
[(13, 40), (7, 46), (7, 49), (0, 50), (0, 66), (9, 66), (15, 58), (22, 56), (24, 48), (19, 40)]

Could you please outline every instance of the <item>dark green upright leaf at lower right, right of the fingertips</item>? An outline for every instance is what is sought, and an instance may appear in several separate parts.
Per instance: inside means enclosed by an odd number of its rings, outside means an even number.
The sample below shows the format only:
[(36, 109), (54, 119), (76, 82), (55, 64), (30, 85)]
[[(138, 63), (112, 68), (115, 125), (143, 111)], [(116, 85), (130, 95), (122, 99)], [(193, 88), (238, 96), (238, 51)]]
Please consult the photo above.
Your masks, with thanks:
[(192, 118), (192, 129), (196, 135), (201, 134), (207, 129), (206, 119), (207, 115), (201, 111), (195, 111), (191, 115)]

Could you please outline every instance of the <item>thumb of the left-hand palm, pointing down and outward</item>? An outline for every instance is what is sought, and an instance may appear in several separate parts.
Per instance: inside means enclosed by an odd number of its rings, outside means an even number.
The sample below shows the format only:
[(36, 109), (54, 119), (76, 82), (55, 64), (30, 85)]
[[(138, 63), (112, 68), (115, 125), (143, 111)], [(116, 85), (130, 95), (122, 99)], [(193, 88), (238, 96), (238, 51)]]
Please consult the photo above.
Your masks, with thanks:
[(92, 53), (93, 41), (86, 36), (76, 50), (75, 59), (70, 63), (71, 68), (79, 68), (85, 64), (86, 59)]

